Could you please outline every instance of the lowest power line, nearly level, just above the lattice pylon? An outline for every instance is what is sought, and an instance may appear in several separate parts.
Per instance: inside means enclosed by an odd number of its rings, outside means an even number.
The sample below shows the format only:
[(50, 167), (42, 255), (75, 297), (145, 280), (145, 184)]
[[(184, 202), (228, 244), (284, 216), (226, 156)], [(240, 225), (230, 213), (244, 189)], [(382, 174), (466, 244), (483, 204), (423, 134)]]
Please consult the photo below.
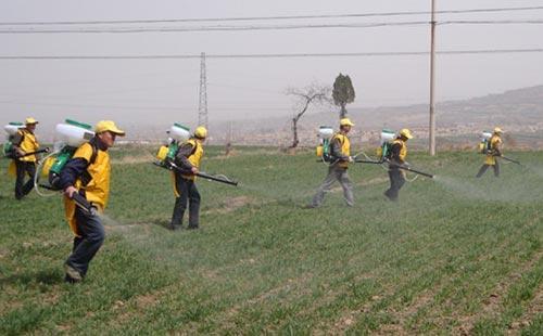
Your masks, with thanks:
[[(506, 53), (540, 53), (543, 48), (529, 49), (482, 49), (482, 50), (444, 50), (442, 55), (462, 54), (506, 54)], [(419, 56), (428, 55), (428, 51), (388, 51), (388, 52), (344, 52), (344, 53), (276, 53), (276, 54), (206, 54), (206, 59), (302, 59), (302, 57), (358, 57), (358, 56)], [(188, 60), (200, 59), (200, 54), (171, 55), (2, 55), (0, 60)]]

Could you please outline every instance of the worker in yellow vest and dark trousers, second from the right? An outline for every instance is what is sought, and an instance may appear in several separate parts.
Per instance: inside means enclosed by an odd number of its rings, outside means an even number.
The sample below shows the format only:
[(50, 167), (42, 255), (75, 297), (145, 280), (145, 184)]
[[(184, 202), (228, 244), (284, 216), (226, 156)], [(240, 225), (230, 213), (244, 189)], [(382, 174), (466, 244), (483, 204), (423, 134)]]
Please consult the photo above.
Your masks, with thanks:
[(397, 201), (400, 190), (405, 184), (405, 172), (399, 166), (406, 166), (407, 140), (413, 139), (411, 131), (402, 129), (396, 139), (392, 142), (389, 157), (389, 179), (390, 188), (384, 192), (390, 201)]

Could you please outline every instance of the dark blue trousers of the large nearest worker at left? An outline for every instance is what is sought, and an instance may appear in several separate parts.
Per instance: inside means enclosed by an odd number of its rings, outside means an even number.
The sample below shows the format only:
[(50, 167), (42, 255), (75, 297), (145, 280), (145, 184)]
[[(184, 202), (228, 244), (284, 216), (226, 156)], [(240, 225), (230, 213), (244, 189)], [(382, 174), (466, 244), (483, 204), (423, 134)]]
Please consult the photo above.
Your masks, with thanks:
[(66, 260), (66, 264), (79, 271), (85, 276), (90, 260), (103, 244), (105, 231), (98, 216), (91, 216), (79, 207), (75, 209), (77, 231), (81, 236), (74, 238), (74, 249)]

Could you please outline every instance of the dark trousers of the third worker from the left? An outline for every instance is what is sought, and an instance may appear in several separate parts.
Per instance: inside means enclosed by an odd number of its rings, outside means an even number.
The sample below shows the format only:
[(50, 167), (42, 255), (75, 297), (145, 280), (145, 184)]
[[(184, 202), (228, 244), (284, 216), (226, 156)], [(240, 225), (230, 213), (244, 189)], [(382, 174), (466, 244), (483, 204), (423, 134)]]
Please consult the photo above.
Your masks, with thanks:
[(172, 216), (172, 227), (181, 227), (182, 217), (189, 205), (189, 229), (197, 229), (200, 223), (200, 193), (194, 181), (187, 180), (180, 173), (175, 175), (175, 188), (179, 197), (175, 198), (174, 215)]

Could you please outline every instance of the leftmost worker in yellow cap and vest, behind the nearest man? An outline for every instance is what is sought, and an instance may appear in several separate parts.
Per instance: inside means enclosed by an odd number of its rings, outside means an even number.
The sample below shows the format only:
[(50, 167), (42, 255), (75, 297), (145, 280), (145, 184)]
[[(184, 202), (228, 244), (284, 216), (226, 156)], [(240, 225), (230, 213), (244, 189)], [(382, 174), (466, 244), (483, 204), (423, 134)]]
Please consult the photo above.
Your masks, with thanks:
[[(34, 177), (36, 176), (36, 163), (38, 156), (26, 155), (39, 150), (39, 142), (36, 139), (36, 125), (38, 120), (29, 117), (25, 120), (25, 127), (21, 128), (13, 137), (13, 150), (15, 152), (15, 198), (22, 199), (34, 188)], [(25, 182), (25, 177), (28, 176), (29, 180)]]

